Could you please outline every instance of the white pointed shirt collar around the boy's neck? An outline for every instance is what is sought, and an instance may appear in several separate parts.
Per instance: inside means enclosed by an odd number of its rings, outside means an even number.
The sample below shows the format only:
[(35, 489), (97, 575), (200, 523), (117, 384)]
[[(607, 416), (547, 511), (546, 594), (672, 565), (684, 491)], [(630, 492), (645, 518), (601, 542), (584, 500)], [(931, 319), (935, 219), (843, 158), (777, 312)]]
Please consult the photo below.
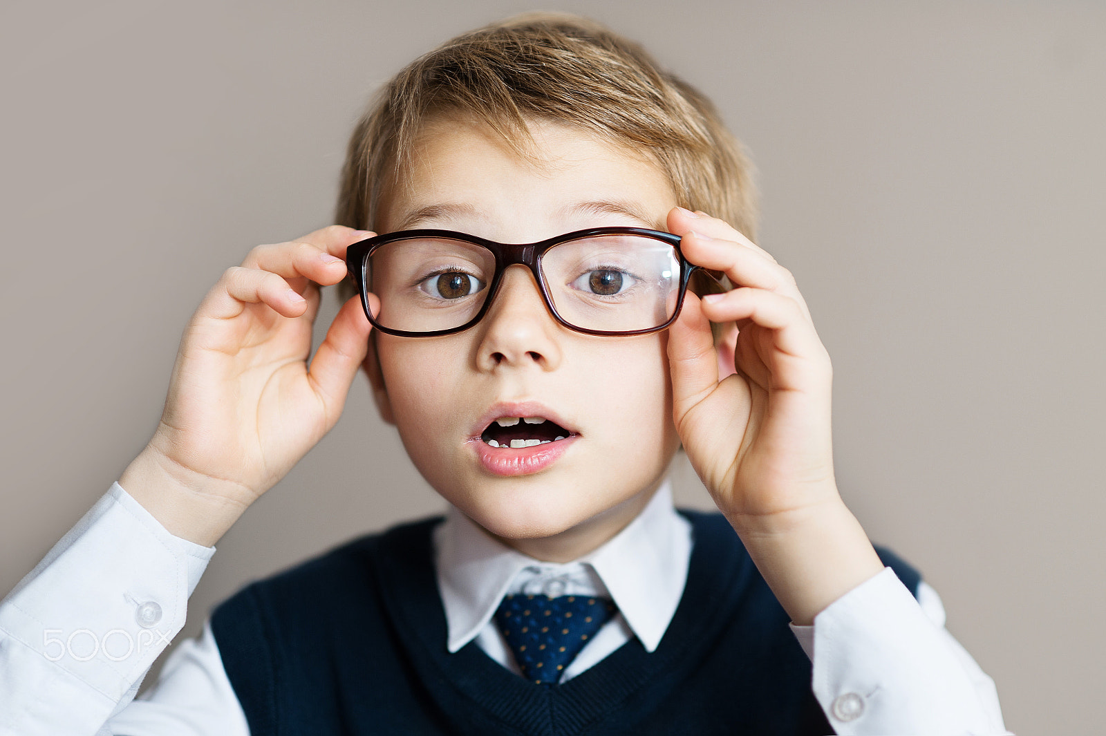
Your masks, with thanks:
[(455, 506), (434, 533), (438, 590), (448, 648), (472, 641), (530, 567), (578, 571), (589, 567), (606, 587), (646, 651), (660, 643), (676, 613), (691, 557), (691, 525), (672, 507), (666, 480), (641, 513), (598, 549), (574, 562), (542, 562), (508, 547)]

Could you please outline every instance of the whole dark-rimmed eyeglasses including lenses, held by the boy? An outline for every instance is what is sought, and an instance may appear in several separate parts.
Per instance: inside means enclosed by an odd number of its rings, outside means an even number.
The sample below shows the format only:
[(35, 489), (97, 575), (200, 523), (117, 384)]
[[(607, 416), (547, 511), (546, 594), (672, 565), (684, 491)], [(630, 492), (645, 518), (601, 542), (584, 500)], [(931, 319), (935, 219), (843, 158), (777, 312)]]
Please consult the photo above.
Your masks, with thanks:
[[(588, 335), (668, 327), (692, 272), (680, 238), (645, 228), (577, 230), (505, 244), (451, 230), (400, 230), (349, 245), (346, 266), (376, 329), (434, 337), (468, 329), (488, 312), (509, 265), (530, 269), (553, 317)], [(717, 281), (717, 280), (714, 280)], [(380, 308), (374, 317), (368, 294)]]

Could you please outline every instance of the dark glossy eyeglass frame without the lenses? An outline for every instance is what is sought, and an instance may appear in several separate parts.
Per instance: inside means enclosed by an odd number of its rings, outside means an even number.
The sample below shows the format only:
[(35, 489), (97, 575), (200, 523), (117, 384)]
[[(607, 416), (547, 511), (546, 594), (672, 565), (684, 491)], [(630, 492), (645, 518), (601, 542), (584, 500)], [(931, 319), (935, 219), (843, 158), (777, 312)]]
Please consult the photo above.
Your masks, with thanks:
[[(577, 327), (576, 325), (566, 322), (560, 314), (557, 314), (556, 307), (553, 306), (553, 299), (550, 297), (545, 280), (542, 276), (541, 269), (539, 267), (542, 255), (544, 255), (545, 252), (554, 245), (560, 245), (561, 243), (566, 243), (571, 240), (593, 238), (596, 235), (643, 235), (646, 238), (653, 238), (654, 240), (664, 241), (674, 248), (676, 255), (680, 261), (680, 291), (676, 302), (676, 309), (672, 312), (672, 316), (668, 319), (668, 322), (657, 327), (649, 327), (647, 329), (602, 330)], [(373, 314), (368, 308), (368, 295), (365, 287), (365, 267), (368, 263), (368, 256), (373, 254), (373, 251), (383, 245), (403, 240), (413, 240), (415, 238), (446, 238), (449, 240), (459, 240), (473, 245), (480, 245), (481, 248), (491, 251), (494, 256), (495, 272), (492, 274), (491, 282), (488, 284), (488, 298), (484, 299), (483, 306), (480, 307), (480, 312), (478, 312), (472, 319), (469, 319), (460, 327), (435, 329), (425, 333), (408, 332), (385, 327), (373, 318)], [(555, 238), (549, 238), (536, 243), (497, 243), (493, 240), (486, 240), (483, 238), (478, 238), (477, 235), (470, 235), (468, 233), (457, 232), (453, 230), (397, 230), (396, 232), (375, 235), (367, 240), (356, 242), (346, 249), (346, 270), (349, 273), (349, 277), (353, 278), (354, 283), (357, 285), (357, 291), (361, 293), (361, 305), (365, 309), (365, 316), (368, 317), (368, 320), (372, 323), (374, 328), (387, 335), (396, 335), (397, 337), (438, 337), (441, 335), (461, 333), (469, 327), (472, 327), (483, 319), (484, 314), (488, 312), (491, 303), (495, 299), (495, 295), (499, 293), (500, 283), (503, 281), (503, 273), (507, 271), (508, 266), (514, 264), (521, 264), (530, 269), (530, 273), (533, 274), (534, 282), (538, 284), (538, 288), (542, 294), (542, 301), (545, 302), (545, 308), (550, 311), (550, 314), (553, 315), (553, 318), (556, 319), (557, 323), (577, 333), (584, 333), (585, 335), (601, 335), (604, 337), (630, 337), (634, 335), (659, 333), (661, 329), (665, 329), (676, 322), (676, 318), (679, 316), (680, 308), (684, 306), (684, 295), (687, 293), (688, 281), (691, 278), (691, 274), (693, 272), (702, 271), (718, 282), (718, 278), (716, 278), (707, 269), (697, 266), (684, 257), (684, 253), (680, 251), (679, 235), (674, 235), (670, 232), (662, 232), (660, 230), (649, 230), (647, 228), (591, 228), (587, 230), (576, 230), (563, 235), (556, 235)], [(718, 283), (721, 284), (721, 282)]]

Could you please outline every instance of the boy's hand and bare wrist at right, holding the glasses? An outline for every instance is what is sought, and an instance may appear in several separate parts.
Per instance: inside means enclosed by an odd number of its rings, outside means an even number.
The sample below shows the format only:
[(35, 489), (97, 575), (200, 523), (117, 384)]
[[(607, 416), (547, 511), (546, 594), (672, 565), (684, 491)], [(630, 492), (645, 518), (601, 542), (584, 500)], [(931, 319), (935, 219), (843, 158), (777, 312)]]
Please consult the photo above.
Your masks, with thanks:
[[(679, 208), (668, 230), (691, 263), (734, 285), (701, 301), (688, 292), (669, 330), (677, 431), (792, 620), (806, 623), (883, 569), (834, 480), (830, 356), (794, 277), (768, 252)], [(718, 347), (711, 322), (727, 325)], [(731, 350), (737, 372), (720, 375)]]

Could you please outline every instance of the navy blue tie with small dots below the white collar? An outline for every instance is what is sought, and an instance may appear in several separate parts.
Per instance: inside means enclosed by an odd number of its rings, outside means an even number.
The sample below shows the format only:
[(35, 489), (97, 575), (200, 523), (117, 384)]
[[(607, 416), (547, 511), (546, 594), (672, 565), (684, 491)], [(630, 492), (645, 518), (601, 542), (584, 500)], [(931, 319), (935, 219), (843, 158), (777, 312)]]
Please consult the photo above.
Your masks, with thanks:
[(615, 606), (587, 596), (505, 596), (495, 624), (522, 676), (555, 685), (568, 663), (615, 614)]

